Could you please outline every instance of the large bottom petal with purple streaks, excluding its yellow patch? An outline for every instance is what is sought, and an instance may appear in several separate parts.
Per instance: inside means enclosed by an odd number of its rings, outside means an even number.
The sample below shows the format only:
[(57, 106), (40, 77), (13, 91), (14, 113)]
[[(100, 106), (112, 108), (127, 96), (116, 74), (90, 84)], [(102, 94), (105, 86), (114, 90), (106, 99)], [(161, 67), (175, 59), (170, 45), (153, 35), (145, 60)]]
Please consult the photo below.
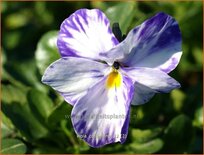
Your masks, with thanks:
[(120, 88), (106, 88), (106, 79), (92, 87), (73, 107), (75, 132), (92, 147), (126, 140), (129, 108), (134, 90), (123, 77)]

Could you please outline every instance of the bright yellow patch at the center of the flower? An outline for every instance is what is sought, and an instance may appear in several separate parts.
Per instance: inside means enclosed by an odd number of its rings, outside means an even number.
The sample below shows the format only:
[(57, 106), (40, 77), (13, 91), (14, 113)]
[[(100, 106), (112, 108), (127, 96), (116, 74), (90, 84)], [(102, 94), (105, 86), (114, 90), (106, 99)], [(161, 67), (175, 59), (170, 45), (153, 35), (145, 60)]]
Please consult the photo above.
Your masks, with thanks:
[(106, 80), (106, 87), (107, 88), (118, 88), (121, 85), (122, 77), (121, 74), (116, 70), (113, 69), (113, 71), (108, 75), (108, 78)]

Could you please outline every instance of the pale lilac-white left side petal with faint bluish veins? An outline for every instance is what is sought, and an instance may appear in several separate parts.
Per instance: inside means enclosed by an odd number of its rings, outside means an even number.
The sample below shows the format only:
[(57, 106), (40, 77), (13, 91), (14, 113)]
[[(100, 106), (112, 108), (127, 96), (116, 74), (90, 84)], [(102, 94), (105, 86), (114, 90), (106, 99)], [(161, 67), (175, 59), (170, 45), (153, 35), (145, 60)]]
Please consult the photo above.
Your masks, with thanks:
[(104, 77), (107, 68), (106, 64), (89, 59), (64, 57), (46, 69), (42, 82), (58, 91), (73, 105)]

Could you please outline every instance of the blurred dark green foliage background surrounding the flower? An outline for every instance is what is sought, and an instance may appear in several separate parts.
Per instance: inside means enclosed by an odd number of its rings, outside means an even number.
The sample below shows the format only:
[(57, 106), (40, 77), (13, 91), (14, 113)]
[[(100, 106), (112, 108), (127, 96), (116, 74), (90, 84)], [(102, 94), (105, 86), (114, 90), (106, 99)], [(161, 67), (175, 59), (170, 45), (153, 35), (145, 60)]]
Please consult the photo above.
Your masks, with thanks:
[[(80, 8), (100, 8), (123, 34), (157, 12), (179, 23), (183, 55), (170, 74), (181, 88), (131, 107), (124, 144), (89, 147), (77, 138), (72, 107), (41, 83), (60, 56), (62, 21)], [(1, 153), (203, 153), (202, 2), (1, 2)]]

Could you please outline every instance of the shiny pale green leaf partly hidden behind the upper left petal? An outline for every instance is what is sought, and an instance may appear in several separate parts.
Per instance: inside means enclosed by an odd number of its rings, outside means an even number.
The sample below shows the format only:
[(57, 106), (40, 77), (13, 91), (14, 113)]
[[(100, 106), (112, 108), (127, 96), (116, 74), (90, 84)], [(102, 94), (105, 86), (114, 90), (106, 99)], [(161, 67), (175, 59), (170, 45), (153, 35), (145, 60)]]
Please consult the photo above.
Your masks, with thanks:
[(57, 35), (58, 31), (47, 32), (38, 42), (35, 59), (41, 75), (52, 62), (60, 58)]

